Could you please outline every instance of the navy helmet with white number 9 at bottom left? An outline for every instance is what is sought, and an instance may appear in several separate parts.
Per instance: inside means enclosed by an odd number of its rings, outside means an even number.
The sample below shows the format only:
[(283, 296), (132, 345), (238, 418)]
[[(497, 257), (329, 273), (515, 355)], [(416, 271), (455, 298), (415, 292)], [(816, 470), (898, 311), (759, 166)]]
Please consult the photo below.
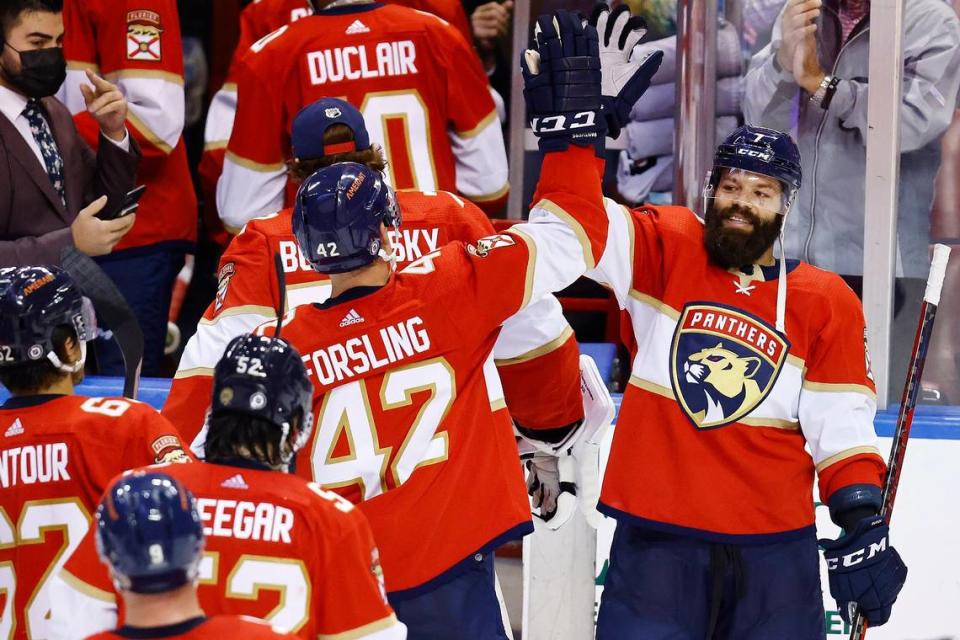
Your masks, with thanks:
[(161, 593), (197, 577), (200, 516), (190, 492), (165, 473), (135, 471), (117, 480), (97, 507), (95, 535), (118, 590)]

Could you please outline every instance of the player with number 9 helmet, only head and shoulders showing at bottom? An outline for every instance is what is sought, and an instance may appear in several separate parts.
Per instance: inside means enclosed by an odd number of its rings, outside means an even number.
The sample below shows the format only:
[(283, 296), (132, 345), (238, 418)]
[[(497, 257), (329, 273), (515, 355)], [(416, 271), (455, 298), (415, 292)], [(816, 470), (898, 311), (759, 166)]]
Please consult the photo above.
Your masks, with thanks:
[(204, 615), (197, 599), (203, 524), (196, 500), (176, 479), (159, 472), (125, 475), (111, 484), (96, 516), (97, 549), (123, 594), (127, 620), (92, 640), (289, 637), (254, 618)]

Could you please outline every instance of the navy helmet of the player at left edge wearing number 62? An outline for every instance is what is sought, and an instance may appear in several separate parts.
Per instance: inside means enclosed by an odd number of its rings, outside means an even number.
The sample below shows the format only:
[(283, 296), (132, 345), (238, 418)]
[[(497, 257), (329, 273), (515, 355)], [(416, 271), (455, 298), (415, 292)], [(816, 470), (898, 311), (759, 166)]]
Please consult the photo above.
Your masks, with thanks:
[[(72, 365), (54, 350), (54, 330), (72, 327), (81, 358)], [(0, 269), (0, 367), (48, 359), (64, 372), (79, 371), (86, 342), (96, 333), (93, 305), (80, 294), (73, 278), (59, 267)]]

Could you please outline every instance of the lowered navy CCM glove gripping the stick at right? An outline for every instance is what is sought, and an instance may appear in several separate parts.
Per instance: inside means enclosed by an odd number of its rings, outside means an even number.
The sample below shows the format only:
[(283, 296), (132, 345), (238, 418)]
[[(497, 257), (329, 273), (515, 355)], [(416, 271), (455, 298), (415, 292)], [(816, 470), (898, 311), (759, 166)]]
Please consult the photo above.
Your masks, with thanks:
[(871, 627), (890, 619), (890, 610), (907, 579), (907, 566), (890, 546), (883, 516), (864, 518), (849, 535), (820, 540), (830, 576), (830, 595), (849, 623), (855, 607)]

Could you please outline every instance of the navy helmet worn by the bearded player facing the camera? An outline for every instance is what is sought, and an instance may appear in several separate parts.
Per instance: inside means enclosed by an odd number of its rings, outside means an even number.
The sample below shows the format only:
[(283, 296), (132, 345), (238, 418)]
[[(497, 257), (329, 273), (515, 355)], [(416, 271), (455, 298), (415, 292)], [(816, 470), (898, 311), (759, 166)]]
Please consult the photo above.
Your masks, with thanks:
[(704, 185), (705, 198), (713, 195), (720, 181), (720, 169), (724, 168), (779, 180), (783, 185), (784, 214), (800, 189), (800, 150), (789, 134), (774, 129), (744, 125), (727, 136), (713, 158), (713, 170)]

